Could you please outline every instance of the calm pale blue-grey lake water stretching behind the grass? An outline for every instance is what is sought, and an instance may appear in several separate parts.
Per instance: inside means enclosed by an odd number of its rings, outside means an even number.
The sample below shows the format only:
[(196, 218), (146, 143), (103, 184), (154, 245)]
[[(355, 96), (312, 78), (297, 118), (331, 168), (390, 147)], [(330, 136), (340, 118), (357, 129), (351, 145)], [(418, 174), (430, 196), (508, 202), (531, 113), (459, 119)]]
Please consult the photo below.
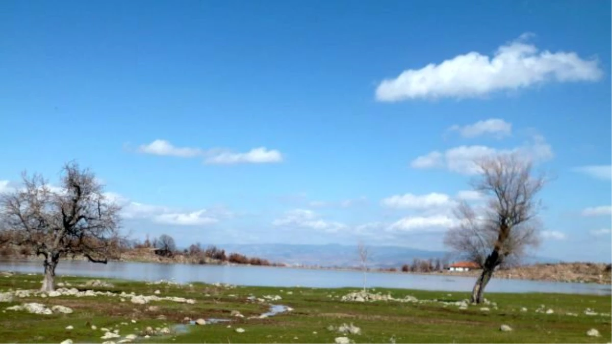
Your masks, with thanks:
[[(0, 271), (42, 273), (41, 261), (0, 261)], [(174, 282), (228, 283), (250, 286), (305, 286), (340, 288), (363, 286), (359, 271), (292, 269), (288, 267), (189, 265), (87, 261), (60, 261), (58, 275), (108, 277), (126, 280), (173, 280)], [(440, 291), (470, 291), (475, 277), (451, 275), (413, 275), (368, 272), (368, 288), (403, 288)], [(611, 285), (587, 283), (537, 282), (528, 280), (491, 280), (487, 291), (501, 293), (565, 293), (612, 295)]]

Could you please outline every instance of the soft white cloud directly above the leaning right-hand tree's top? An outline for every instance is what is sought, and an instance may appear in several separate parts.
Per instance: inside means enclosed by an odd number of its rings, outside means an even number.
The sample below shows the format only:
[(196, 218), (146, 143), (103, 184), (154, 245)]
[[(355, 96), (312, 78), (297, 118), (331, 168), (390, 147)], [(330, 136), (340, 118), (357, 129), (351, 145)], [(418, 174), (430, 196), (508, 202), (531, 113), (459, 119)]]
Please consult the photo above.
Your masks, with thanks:
[[(473, 146), (457, 146), (447, 149), (444, 154), (438, 151), (430, 152), (427, 155), (417, 157), (412, 160), (411, 166), (414, 168), (433, 168), (445, 166), (448, 170), (461, 174), (477, 174), (479, 168), (474, 163), (475, 160), (483, 157), (491, 157), (496, 154), (512, 154), (517, 153), (534, 162), (543, 162), (553, 158), (554, 153), (550, 144), (543, 136), (535, 135), (531, 141), (528, 141), (523, 146), (513, 149), (496, 149), (488, 146), (473, 145)], [(425, 160), (430, 160), (431, 155), (435, 155), (438, 159), (435, 164), (424, 164)]]

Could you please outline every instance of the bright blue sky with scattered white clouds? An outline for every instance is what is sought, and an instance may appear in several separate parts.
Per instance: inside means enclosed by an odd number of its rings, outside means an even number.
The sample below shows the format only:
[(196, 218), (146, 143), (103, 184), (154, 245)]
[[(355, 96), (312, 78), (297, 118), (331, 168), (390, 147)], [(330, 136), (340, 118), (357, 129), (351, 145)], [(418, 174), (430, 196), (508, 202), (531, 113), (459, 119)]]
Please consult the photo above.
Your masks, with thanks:
[(612, 2), (2, 1), (0, 192), (76, 160), (133, 237), (442, 250), (473, 159), (612, 260)]

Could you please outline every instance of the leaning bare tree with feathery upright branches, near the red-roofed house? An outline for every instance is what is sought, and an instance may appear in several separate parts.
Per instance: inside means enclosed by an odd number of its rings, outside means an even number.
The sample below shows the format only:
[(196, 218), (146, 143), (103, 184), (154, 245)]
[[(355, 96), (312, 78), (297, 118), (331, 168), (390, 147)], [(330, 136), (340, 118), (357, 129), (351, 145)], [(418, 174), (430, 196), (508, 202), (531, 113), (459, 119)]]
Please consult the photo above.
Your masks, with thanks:
[(535, 196), (547, 179), (533, 176), (532, 163), (516, 154), (487, 157), (477, 165), (480, 176), (472, 186), (488, 196), (487, 203), (481, 209), (460, 203), (455, 210), (460, 224), (450, 228), (444, 244), (482, 267), (471, 297), (480, 303), (496, 267), (519, 260), (539, 245), (541, 205)]

